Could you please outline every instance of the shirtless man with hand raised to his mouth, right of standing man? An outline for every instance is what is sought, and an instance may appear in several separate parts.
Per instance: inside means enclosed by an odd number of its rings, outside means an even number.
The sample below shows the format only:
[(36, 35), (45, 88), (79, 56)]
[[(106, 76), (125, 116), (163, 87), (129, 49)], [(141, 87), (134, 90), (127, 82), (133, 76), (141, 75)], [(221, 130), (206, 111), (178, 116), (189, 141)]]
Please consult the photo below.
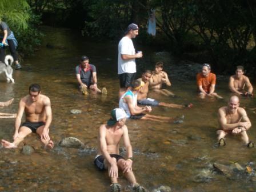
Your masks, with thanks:
[(167, 86), (171, 86), (171, 82), (168, 78), (168, 75), (165, 71), (163, 70), (163, 62), (159, 61), (155, 63), (155, 70), (153, 71), (153, 75), (150, 78), (150, 87), (153, 89), (155, 92), (166, 95), (166, 96), (175, 96), (174, 93), (167, 89), (161, 89), (163, 84)]

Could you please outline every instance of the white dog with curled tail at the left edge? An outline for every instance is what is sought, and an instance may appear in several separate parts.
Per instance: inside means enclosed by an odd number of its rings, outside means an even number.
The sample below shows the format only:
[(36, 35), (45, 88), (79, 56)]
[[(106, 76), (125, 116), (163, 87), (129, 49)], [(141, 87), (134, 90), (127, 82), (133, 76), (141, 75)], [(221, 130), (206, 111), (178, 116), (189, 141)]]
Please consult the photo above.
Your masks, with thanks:
[[(10, 60), (10, 65), (9, 65), (9, 60)], [(11, 67), (11, 64), (13, 64), (13, 57), (11, 55), (5, 56), (5, 63), (0, 61), (0, 74), (5, 74), (5, 77), (8, 83), (10, 81), (14, 83), (13, 68)]]

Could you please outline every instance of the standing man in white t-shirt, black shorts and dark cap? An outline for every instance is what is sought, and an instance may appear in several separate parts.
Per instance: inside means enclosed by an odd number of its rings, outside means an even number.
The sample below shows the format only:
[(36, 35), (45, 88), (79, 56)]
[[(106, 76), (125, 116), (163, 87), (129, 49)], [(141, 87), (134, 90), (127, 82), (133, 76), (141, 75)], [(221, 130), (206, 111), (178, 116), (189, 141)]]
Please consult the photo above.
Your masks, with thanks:
[(125, 94), (127, 88), (135, 78), (135, 58), (142, 58), (142, 52), (135, 53), (132, 38), (139, 34), (138, 25), (131, 23), (118, 44), (118, 76), (120, 81), (119, 97)]

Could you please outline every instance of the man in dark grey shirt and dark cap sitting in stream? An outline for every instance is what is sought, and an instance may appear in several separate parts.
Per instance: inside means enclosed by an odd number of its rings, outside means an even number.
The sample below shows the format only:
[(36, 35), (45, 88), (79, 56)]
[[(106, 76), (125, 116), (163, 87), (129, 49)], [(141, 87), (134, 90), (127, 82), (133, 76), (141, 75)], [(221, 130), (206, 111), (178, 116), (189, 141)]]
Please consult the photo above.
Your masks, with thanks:
[(96, 67), (89, 64), (89, 58), (85, 55), (81, 57), (80, 65), (75, 67), (75, 74), (77, 75), (79, 89), (81, 89), (83, 94), (88, 94), (87, 89), (93, 90), (96, 93), (107, 94), (105, 87), (102, 88), (102, 91), (98, 89)]

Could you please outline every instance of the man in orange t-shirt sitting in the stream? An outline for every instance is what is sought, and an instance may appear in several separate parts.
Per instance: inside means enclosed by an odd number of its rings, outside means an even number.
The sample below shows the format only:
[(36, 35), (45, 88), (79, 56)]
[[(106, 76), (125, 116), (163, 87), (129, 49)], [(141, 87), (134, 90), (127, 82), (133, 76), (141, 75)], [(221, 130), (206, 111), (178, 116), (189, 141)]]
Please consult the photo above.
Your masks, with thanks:
[(197, 88), (199, 96), (204, 99), (206, 96), (223, 99), (215, 93), (216, 75), (211, 72), (211, 66), (208, 63), (203, 64), (202, 72), (197, 74)]

